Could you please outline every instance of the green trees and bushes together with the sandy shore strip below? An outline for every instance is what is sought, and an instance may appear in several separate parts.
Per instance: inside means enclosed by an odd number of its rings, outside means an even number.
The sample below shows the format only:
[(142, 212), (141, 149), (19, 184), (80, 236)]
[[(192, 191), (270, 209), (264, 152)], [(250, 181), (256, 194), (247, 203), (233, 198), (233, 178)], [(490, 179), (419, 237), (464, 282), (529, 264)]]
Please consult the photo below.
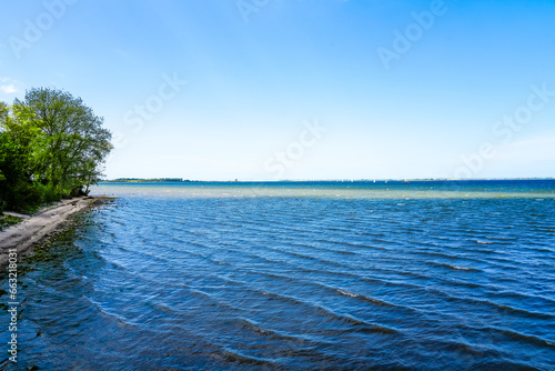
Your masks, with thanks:
[(8, 249), (24, 254), (105, 201), (88, 197), (113, 148), (102, 124), (62, 90), (33, 88), (11, 106), (0, 102), (0, 265)]

